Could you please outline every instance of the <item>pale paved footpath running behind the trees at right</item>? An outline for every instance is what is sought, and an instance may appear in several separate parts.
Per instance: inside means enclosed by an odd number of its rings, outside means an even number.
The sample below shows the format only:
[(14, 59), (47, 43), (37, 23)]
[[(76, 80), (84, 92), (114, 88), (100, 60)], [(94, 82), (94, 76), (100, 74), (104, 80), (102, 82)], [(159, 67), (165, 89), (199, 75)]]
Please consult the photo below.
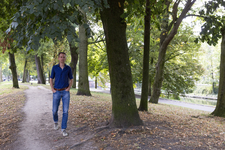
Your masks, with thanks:
[[(95, 91), (95, 92), (110, 93), (109, 90), (101, 90), (101, 89), (94, 89), (94, 88), (91, 88), (90, 90)], [(135, 94), (135, 96), (136, 96), (136, 98), (141, 97), (140, 95), (137, 95), (137, 94)], [(197, 110), (203, 110), (203, 111), (208, 111), (208, 112), (213, 112), (215, 109), (215, 107), (213, 107), (213, 106), (191, 104), (191, 103), (186, 103), (186, 102), (181, 102), (181, 101), (176, 101), (176, 100), (169, 100), (169, 99), (165, 99), (165, 98), (159, 98), (159, 103), (176, 105), (176, 106), (197, 109)]]

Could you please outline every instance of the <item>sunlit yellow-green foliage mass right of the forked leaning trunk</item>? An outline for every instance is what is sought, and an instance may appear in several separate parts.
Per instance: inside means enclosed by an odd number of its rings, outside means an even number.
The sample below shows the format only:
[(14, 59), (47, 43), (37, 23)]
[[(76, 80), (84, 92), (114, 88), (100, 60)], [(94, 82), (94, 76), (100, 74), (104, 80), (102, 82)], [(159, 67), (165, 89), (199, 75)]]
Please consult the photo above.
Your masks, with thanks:
[(203, 74), (198, 54), (200, 44), (194, 43), (195, 38), (192, 29), (183, 25), (168, 46), (162, 86), (167, 93), (189, 93)]

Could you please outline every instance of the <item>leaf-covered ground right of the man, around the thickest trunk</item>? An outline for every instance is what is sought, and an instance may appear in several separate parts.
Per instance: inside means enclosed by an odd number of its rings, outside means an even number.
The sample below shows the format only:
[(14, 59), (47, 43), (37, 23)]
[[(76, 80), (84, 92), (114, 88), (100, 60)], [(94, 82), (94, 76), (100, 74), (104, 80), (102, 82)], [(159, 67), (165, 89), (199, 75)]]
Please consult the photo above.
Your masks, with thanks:
[[(71, 93), (69, 124), (89, 130), (103, 126), (111, 116), (111, 97), (92, 93), (77, 96)], [(137, 102), (139, 104), (139, 100)], [(139, 112), (143, 126), (104, 129), (96, 134), (99, 149), (224, 149), (225, 118), (208, 112), (149, 104), (148, 112)], [(79, 133), (81, 134), (81, 132)]]

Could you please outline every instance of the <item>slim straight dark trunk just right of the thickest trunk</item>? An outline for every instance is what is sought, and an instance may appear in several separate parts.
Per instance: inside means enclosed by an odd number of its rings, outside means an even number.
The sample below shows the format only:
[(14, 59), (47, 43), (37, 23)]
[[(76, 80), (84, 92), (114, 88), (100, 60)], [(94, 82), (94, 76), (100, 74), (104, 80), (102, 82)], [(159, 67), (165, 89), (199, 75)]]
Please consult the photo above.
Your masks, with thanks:
[(146, 0), (145, 31), (144, 31), (144, 56), (143, 77), (141, 89), (140, 111), (148, 111), (148, 79), (149, 79), (149, 47), (150, 47), (150, 0)]

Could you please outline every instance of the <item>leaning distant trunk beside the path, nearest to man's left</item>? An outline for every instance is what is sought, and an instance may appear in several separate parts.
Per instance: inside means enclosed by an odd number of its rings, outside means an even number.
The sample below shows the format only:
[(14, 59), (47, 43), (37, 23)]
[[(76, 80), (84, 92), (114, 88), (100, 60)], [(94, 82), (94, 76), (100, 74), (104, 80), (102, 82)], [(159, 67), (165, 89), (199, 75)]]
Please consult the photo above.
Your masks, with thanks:
[(35, 63), (37, 69), (37, 76), (38, 76), (38, 84), (45, 84), (45, 77), (41, 66), (41, 60), (38, 55), (35, 55)]

